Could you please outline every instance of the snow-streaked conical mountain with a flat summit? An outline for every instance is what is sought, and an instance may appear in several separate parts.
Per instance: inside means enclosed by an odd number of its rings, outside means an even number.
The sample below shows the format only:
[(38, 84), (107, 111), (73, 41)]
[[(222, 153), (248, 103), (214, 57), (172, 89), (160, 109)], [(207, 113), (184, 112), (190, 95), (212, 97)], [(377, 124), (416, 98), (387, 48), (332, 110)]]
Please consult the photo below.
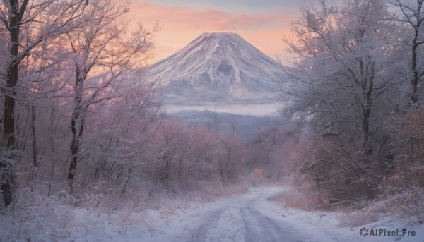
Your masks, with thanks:
[(147, 73), (162, 83), (165, 103), (270, 102), (281, 65), (240, 35), (220, 32), (197, 37)]

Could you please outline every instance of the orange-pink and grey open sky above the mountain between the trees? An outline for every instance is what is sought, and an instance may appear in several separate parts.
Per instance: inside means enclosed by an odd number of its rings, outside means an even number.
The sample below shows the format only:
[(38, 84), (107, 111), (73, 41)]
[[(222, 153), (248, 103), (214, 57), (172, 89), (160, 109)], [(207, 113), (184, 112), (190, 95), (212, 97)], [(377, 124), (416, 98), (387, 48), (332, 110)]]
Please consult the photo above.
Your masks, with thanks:
[(182, 49), (204, 32), (236, 32), (273, 59), (285, 58), (290, 22), (304, 1), (290, 0), (131, 0), (134, 23), (159, 22), (158, 61)]

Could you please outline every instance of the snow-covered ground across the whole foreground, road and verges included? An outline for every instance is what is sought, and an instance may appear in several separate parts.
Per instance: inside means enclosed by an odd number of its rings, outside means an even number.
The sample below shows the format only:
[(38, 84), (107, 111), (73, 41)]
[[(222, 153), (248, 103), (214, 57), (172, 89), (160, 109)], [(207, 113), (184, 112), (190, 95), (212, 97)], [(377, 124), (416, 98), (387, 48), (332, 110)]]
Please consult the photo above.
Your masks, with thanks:
[[(305, 212), (273, 202), (284, 187), (252, 188), (250, 193), (223, 198), (189, 210), (176, 210), (166, 217), (160, 210), (117, 211), (112, 214), (93, 210), (54, 207), (67, 222), (25, 221), (20, 234), (11, 230), (0, 241), (424, 241), (423, 224), (383, 219), (358, 228), (339, 227), (336, 212)], [(58, 218), (60, 219), (60, 217)], [(406, 228), (415, 236), (366, 236), (360, 229)], [(31, 234), (28, 229), (32, 230)], [(1, 228), (0, 228), (1, 231)], [(44, 232), (42, 232), (44, 231)], [(369, 231), (370, 232), (370, 231)], [(0, 233), (1, 234), (1, 233)], [(29, 237), (28, 237), (29, 235)]]

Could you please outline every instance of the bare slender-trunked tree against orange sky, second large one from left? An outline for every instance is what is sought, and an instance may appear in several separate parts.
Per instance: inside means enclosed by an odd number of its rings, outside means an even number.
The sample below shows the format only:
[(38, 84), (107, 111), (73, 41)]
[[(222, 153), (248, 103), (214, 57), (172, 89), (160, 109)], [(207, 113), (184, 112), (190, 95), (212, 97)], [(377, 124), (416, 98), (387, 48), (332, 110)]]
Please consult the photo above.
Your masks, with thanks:
[(114, 4), (107, 0), (90, 1), (81, 21), (87, 25), (68, 32), (69, 44), (75, 66), (73, 83), (73, 111), (71, 114), (71, 163), (68, 172), (70, 191), (76, 172), (86, 115), (93, 104), (120, 95), (110, 88), (137, 71), (153, 47), (152, 33), (139, 26), (136, 32), (127, 31), (124, 16), (129, 13), (128, 4)]

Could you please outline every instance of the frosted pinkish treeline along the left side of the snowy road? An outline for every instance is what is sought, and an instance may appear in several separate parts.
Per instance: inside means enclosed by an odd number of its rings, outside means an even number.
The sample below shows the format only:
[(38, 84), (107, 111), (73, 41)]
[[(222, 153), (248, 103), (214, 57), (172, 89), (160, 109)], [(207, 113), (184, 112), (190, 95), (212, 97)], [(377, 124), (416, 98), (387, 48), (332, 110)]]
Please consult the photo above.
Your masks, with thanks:
[[(109, 0), (0, 3), (0, 207), (40, 195), (151, 183), (193, 189), (237, 179), (235, 133), (187, 128), (153, 102), (143, 69), (160, 27), (129, 28), (129, 4)], [(135, 25), (135, 24), (133, 24)]]

